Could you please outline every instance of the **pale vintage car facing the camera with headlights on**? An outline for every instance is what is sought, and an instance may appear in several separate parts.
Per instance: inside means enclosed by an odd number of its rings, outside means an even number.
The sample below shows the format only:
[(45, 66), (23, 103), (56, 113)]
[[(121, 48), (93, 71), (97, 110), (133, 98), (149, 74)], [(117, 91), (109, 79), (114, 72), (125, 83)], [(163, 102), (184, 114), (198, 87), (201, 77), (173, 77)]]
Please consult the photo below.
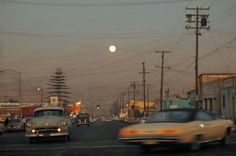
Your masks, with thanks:
[(61, 137), (67, 142), (71, 134), (71, 120), (63, 107), (36, 108), (26, 123), (26, 137), (32, 143), (40, 138)]

